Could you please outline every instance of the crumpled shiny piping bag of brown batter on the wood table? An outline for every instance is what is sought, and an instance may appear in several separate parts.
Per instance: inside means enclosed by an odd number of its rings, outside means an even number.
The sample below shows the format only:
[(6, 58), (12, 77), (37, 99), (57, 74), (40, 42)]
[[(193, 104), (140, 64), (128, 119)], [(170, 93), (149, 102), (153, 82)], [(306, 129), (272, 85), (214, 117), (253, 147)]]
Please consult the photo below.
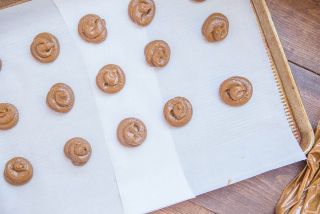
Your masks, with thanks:
[(275, 214), (320, 213), (320, 121), (315, 129), (316, 142), (306, 159), (306, 166), (282, 192)]

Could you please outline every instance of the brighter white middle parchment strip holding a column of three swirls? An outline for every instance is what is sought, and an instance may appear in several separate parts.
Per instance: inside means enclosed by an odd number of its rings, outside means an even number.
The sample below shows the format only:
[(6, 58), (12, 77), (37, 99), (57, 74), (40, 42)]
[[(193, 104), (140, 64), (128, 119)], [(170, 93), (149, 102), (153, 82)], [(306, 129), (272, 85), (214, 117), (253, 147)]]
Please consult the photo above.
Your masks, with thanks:
[[(163, 102), (155, 72), (144, 60), (147, 34), (127, 16), (127, 1), (55, 1), (85, 62), (99, 110), (104, 136), (126, 213), (142, 213), (193, 197), (163, 121)], [(84, 42), (77, 33), (79, 19), (99, 15), (106, 22), (107, 39)], [(124, 88), (105, 94), (95, 84), (98, 71), (116, 64), (125, 73)], [(116, 138), (118, 123), (126, 117), (142, 120), (147, 138), (126, 148)]]

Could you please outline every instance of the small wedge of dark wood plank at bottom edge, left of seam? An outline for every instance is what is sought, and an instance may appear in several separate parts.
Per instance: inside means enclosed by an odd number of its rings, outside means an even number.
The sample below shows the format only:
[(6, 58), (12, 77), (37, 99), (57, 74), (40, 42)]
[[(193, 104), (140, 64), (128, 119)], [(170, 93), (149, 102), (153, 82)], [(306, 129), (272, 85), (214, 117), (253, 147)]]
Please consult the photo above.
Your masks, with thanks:
[(152, 214), (214, 214), (215, 212), (209, 211), (199, 205), (190, 201), (183, 201), (172, 206), (159, 209), (151, 212)]

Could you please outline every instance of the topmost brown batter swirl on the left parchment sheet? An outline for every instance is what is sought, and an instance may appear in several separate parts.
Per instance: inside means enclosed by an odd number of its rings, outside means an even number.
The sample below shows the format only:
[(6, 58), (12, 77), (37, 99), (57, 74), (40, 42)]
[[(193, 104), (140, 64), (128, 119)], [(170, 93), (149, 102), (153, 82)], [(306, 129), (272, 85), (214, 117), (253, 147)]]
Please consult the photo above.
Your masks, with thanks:
[(35, 60), (41, 63), (53, 62), (59, 55), (59, 41), (49, 33), (36, 35), (30, 45), (30, 51)]

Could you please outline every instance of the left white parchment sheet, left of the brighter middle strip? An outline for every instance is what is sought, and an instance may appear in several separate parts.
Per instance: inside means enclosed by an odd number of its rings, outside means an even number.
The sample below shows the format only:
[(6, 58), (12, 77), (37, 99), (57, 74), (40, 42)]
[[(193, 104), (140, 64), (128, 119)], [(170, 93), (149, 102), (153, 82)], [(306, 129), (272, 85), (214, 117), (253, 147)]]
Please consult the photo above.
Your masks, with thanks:
[[(40, 32), (59, 40), (60, 54), (52, 63), (41, 64), (30, 54)], [(0, 10), (0, 59), (0, 103), (19, 111), (17, 125), (0, 131), (0, 213), (123, 213), (84, 63), (51, 1)], [(74, 106), (66, 114), (45, 103), (58, 82), (74, 92)], [(91, 144), (84, 166), (74, 166), (64, 156), (63, 145), (72, 137)], [(32, 179), (22, 186), (8, 184), (2, 175), (6, 161), (15, 156), (33, 165)]]

